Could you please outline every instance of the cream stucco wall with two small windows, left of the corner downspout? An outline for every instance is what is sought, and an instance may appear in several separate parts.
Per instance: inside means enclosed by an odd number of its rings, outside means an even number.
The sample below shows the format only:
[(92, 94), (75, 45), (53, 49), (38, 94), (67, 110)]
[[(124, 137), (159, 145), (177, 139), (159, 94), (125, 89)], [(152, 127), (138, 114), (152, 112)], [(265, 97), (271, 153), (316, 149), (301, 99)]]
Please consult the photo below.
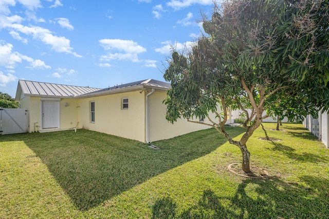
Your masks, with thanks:
[[(129, 109), (121, 109), (122, 97)], [(90, 101), (95, 102), (95, 123), (90, 122)], [(145, 141), (145, 94), (139, 91), (79, 99), (79, 127)]]

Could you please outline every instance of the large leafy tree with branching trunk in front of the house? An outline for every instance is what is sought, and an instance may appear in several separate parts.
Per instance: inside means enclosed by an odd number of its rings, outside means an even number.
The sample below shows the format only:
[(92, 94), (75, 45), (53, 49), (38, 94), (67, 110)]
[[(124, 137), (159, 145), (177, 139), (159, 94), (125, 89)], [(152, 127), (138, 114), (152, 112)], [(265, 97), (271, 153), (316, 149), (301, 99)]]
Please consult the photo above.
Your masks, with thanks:
[[(167, 120), (207, 117), (242, 152), (265, 117), (291, 120), (329, 107), (328, 0), (228, 0), (204, 17), (204, 34), (185, 51), (173, 51), (165, 72), (172, 88)], [(225, 130), (228, 107), (246, 116), (240, 140)], [(209, 116), (216, 114), (216, 120)], [(203, 123), (205, 124), (205, 123)]]

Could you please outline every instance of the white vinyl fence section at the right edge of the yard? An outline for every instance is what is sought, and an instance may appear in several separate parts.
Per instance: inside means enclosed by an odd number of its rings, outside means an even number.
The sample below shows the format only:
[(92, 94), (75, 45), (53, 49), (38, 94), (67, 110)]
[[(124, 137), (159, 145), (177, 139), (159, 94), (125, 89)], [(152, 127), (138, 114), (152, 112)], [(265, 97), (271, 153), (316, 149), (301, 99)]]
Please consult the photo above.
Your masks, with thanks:
[(312, 115), (307, 115), (303, 121), (303, 125), (312, 134), (317, 136), (321, 142), (329, 148), (329, 113), (319, 112), (318, 118), (313, 118)]

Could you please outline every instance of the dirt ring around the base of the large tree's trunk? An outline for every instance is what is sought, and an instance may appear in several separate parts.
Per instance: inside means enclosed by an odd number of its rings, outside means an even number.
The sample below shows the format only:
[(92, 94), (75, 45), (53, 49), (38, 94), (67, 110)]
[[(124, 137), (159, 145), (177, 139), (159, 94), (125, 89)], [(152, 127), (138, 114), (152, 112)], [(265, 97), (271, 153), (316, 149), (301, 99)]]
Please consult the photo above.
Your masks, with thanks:
[(228, 171), (230, 171), (238, 176), (245, 177), (245, 178), (263, 180), (264, 178), (270, 176), (266, 170), (259, 168), (259, 167), (254, 167), (254, 166), (250, 166), (251, 173), (245, 173), (242, 170), (241, 163), (230, 164), (230, 165), (228, 165), (227, 169), (228, 169)]

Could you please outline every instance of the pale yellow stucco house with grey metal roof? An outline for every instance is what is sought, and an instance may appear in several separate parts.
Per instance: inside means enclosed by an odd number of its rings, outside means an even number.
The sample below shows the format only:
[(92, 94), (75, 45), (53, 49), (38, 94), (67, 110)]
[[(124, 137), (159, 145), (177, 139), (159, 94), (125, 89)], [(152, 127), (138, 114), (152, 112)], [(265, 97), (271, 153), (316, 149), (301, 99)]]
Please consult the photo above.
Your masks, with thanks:
[(170, 87), (154, 79), (105, 89), (19, 80), (15, 99), (27, 109), (28, 132), (84, 128), (150, 143), (209, 128), (166, 120)]

